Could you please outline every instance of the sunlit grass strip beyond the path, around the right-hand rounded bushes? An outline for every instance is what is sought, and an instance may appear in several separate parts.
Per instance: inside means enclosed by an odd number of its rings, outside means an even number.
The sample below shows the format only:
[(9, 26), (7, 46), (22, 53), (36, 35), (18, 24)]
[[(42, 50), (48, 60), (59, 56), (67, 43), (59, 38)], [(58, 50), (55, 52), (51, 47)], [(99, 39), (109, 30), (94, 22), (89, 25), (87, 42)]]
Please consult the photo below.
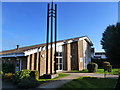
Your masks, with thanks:
[[(88, 70), (87, 69), (85, 69), (84, 71), (73, 70), (72, 72), (88, 73)], [(104, 69), (97, 69), (97, 71), (95, 73), (104, 73)], [(112, 72), (105, 72), (105, 73), (118, 75), (118, 74), (120, 74), (120, 69), (112, 69)]]

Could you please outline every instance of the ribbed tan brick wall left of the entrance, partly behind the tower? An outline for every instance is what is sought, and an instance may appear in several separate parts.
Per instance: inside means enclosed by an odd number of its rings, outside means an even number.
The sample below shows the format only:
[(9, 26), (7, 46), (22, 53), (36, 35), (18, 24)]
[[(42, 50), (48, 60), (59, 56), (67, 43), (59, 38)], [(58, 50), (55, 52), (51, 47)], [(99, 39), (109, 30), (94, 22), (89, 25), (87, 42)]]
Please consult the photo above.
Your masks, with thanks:
[[(52, 73), (54, 73), (54, 49), (52, 49)], [(46, 50), (27, 56), (27, 69), (38, 70), (40, 76), (46, 74)], [(50, 74), (50, 50), (48, 50), (48, 74)]]

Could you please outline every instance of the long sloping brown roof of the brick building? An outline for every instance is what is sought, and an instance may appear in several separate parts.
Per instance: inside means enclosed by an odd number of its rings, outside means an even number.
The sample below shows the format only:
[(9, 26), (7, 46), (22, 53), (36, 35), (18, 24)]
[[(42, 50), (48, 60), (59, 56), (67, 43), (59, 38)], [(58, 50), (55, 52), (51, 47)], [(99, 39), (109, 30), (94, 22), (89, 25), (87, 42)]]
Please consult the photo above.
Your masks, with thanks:
[[(87, 37), (87, 36), (82, 36), (82, 37)], [(79, 38), (82, 38), (82, 37), (76, 37), (76, 38), (71, 38), (71, 39), (59, 40), (59, 41), (57, 41), (57, 43), (58, 42), (65, 42), (65, 41), (69, 41), (69, 40), (74, 40), (74, 39), (79, 39)], [(91, 42), (91, 44), (92, 44), (92, 42)], [(45, 46), (45, 45), (46, 45), (46, 43), (38, 44), (38, 45), (32, 45), (32, 46), (26, 46), (26, 47), (21, 47), (21, 48), (19, 48), (18, 52), (22, 53), (22, 52), (24, 52), (26, 50), (39, 48), (39, 47), (42, 47), (42, 46)], [(2, 51), (2, 52), (0, 52), (0, 54), (15, 53), (16, 51), (17, 51), (16, 49), (11, 49), (11, 50)]]

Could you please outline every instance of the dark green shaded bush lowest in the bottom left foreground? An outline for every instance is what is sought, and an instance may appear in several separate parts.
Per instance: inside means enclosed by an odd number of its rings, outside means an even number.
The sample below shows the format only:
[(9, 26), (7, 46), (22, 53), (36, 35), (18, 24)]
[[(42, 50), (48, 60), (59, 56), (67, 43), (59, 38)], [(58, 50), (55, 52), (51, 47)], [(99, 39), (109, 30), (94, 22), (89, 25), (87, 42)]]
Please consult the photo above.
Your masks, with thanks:
[(39, 86), (39, 82), (35, 80), (33, 77), (26, 77), (21, 79), (21, 81), (18, 83), (19, 88), (35, 88)]

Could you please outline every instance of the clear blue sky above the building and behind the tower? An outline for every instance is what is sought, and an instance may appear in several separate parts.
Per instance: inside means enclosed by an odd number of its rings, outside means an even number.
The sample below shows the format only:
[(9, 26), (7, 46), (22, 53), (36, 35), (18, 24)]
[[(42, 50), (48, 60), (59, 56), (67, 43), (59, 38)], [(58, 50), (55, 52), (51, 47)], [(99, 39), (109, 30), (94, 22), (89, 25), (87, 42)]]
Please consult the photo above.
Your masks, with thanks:
[[(104, 51), (102, 33), (118, 21), (117, 2), (58, 2), (57, 39), (88, 36)], [(2, 50), (46, 42), (46, 2), (2, 3)]]

